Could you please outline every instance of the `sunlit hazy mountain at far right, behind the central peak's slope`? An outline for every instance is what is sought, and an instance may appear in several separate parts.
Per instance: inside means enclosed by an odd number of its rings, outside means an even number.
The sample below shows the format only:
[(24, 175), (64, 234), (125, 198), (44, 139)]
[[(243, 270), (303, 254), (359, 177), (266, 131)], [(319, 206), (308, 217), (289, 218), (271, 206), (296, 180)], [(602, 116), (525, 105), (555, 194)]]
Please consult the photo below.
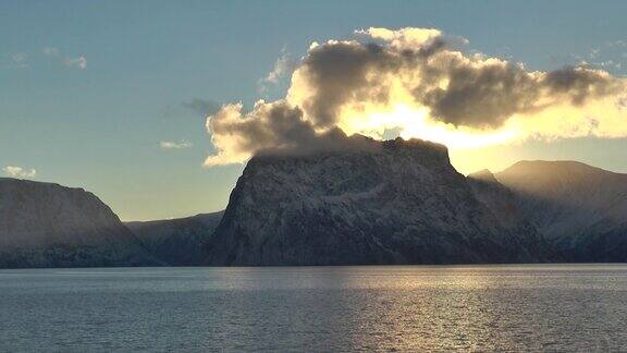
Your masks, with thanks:
[(568, 261), (627, 261), (627, 174), (576, 161), (520, 161), (496, 173)]

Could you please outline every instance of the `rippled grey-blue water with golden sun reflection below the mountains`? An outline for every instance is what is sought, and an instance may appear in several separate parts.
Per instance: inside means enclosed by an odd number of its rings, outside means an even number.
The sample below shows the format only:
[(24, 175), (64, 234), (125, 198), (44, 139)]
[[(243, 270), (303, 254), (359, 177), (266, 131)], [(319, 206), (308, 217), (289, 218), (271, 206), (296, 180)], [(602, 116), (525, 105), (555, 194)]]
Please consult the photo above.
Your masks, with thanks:
[(627, 350), (627, 266), (0, 270), (0, 351)]

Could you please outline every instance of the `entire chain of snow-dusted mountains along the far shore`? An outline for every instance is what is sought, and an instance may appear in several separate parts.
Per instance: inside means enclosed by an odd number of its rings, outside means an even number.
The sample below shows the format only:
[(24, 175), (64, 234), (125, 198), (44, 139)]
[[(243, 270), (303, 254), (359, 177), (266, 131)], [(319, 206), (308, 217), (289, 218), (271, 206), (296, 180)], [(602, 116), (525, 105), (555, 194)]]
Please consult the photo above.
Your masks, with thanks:
[(627, 174), (464, 176), (442, 145), (360, 137), (254, 157), (224, 211), (124, 223), (82, 187), (0, 178), (0, 267), (516, 261), (627, 261)]

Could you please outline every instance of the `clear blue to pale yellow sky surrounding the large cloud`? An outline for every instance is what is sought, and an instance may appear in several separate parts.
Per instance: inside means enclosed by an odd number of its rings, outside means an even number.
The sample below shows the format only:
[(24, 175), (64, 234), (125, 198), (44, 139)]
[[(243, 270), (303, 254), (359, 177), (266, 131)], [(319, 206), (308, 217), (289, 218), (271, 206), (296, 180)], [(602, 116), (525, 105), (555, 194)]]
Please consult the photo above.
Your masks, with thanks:
[[(623, 1), (1, 1), (0, 173), (84, 187), (123, 220), (221, 210), (244, 165), (207, 165), (219, 150), (206, 115), (284, 98), (314, 41), (438, 28), (528, 72), (586, 63), (622, 78), (625, 13)], [(522, 159), (627, 172), (625, 150), (622, 136), (528, 138), (451, 158), (463, 173)]]

